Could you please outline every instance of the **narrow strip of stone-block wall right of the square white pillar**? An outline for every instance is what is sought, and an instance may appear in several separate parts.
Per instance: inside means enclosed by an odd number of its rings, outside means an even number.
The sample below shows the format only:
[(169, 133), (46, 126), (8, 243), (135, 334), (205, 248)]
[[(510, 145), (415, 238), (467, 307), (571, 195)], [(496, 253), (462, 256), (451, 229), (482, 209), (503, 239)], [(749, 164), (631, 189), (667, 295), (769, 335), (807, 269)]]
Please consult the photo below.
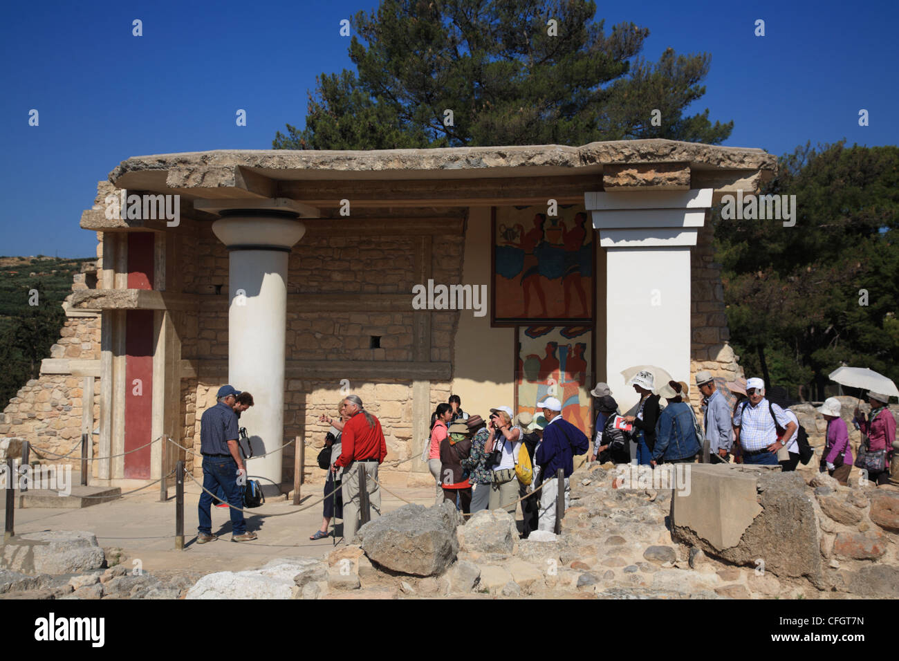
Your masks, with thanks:
[(715, 263), (713, 229), (699, 229), (697, 245), (690, 259), (690, 402), (699, 410), (702, 394), (696, 388), (696, 372), (708, 370), (715, 376), (734, 380), (743, 376), (740, 357), (728, 343), (730, 331), (725, 314), (725, 292), (721, 283), (721, 264)]

